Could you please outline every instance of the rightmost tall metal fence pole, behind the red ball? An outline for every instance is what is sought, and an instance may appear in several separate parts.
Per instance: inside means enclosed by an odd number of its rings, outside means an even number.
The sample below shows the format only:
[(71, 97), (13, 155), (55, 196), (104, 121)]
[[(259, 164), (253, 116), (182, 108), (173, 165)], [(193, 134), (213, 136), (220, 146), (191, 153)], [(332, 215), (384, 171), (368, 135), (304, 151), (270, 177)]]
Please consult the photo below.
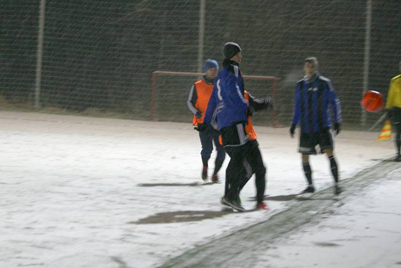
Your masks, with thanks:
[[(372, 1), (366, 0), (366, 27), (365, 27), (365, 53), (363, 59), (362, 96), (369, 86), (369, 62), (370, 62), (370, 29), (372, 24)], [(366, 124), (366, 110), (361, 108), (360, 126), (363, 130)]]

